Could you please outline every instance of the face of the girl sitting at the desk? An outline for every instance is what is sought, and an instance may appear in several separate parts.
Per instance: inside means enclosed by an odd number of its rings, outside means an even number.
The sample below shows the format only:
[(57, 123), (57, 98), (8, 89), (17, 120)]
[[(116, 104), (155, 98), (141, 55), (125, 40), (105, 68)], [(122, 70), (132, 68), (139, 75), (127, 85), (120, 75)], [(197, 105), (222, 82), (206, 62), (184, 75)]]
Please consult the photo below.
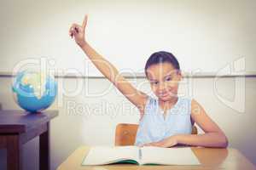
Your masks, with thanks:
[(160, 100), (167, 101), (177, 97), (178, 82), (182, 76), (171, 63), (150, 65), (147, 69), (147, 77), (150, 87)]

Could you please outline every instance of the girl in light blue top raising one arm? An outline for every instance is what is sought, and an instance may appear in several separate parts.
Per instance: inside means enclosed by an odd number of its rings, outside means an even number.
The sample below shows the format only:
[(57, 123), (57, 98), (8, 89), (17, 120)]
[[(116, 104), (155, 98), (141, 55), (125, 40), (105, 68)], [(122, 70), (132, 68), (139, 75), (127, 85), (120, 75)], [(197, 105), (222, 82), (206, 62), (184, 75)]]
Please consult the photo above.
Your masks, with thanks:
[[(154, 53), (146, 63), (146, 77), (158, 98), (154, 99), (134, 88), (107, 59), (90, 47), (84, 37), (87, 20), (88, 16), (85, 15), (82, 26), (73, 24), (69, 35), (74, 37), (96, 68), (137, 106), (140, 123), (135, 144), (160, 147), (172, 147), (176, 144), (227, 147), (228, 139), (224, 132), (207, 116), (202, 106), (195, 99), (177, 96), (182, 75), (177, 59), (171, 53)], [(201, 127), (204, 134), (191, 134), (194, 122)]]

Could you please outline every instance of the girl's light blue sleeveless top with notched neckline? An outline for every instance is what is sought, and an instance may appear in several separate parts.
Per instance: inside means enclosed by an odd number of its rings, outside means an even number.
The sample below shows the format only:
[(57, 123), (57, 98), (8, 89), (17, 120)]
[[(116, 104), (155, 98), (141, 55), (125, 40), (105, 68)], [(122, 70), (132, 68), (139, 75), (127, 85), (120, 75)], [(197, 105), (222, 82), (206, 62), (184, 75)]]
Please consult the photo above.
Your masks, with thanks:
[(190, 134), (192, 123), (190, 119), (191, 99), (178, 97), (172, 109), (164, 111), (158, 104), (158, 99), (148, 96), (143, 118), (137, 129), (136, 145), (157, 142), (174, 134)]

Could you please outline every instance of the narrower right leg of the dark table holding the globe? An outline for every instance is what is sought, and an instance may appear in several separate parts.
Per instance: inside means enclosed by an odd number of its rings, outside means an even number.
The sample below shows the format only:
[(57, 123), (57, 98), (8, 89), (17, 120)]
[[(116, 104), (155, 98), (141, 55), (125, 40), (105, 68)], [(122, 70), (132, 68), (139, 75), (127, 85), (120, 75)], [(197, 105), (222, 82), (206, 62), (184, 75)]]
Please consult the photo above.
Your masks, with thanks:
[(39, 136), (39, 167), (40, 170), (49, 170), (49, 122), (47, 131)]

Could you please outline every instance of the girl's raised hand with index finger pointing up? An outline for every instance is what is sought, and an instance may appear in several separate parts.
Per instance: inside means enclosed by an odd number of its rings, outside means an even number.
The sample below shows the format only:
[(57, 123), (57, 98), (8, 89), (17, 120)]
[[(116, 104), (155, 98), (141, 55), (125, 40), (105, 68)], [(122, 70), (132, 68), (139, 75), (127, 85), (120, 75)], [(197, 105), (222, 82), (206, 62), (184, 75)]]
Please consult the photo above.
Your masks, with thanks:
[(75, 41), (80, 47), (83, 47), (84, 44), (86, 44), (84, 35), (85, 35), (85, 27), (87, 25), (87, 20), (88, 20), (88, 15), (86, 14), (84, 16), (84, 21), (82, 26), (74, 23), (69, 29), (69, 36), (72, 38), (74, 37)]

